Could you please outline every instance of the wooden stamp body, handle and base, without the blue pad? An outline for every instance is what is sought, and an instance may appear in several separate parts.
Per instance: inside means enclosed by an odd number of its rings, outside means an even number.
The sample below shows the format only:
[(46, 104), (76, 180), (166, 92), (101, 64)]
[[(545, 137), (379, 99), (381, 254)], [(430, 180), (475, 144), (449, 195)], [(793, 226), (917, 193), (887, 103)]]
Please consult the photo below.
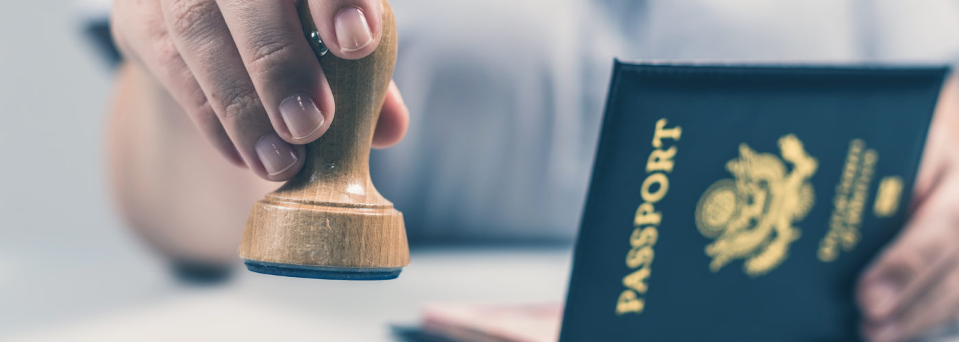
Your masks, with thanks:
[[(313, 19), (301, 1), (306, 32)], [(396, 59), (393, 13), (383, 1), (380, 45), (367, 57), (320, 58), (337, 115), (307, 145), (303, 170), (257, 202), (246, 223), (240, 257), (286, 264), (391, 268), (409, 264), (403, 215), (369, 177), (373, 129)], [(309, 26), (309, 27), (307, 27)]]

